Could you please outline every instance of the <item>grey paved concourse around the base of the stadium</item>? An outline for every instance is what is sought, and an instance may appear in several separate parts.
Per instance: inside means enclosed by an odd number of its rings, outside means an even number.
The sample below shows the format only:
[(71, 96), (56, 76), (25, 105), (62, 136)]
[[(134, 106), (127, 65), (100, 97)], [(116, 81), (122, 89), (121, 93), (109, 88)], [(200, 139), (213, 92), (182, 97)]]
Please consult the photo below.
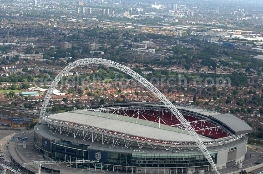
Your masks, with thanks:
[[(27, 148), (26, 149), (23, 148), (23, 142), (22, 141), (10, 142), (9, 148), (10, 149), (17, 149), (17, 151), (16, 150), (10, 151), (11, 155), (20, 164), (21, 163), (28, 163), (28, 162), (32, 162), (32, 161), (44, 161), (43, 154), (38, 153), (38, 151), (35, 149), (33, 130), (31, 130), (30, 133), (28, 133), (27, 131), (25, 131), (23, 133), (23, 137), (28, 137), (28, 140), (26, 140)], [(23, 132), (23, 131), (21, 131), (21, 132)], [(21, 134), (21, 132), (19, 132), (19, 134)], [(2, 137), (0, 134), (0, 138), (2, 138)], [(5, 144), (6, 142), (7, 142), (7, 137), (4, 137), (0, 140), (0, 144)], [(5, 152), (5, 154), (8, 154), (8, 152)], [(255, 153), (253, 150), (247, 149), (247, 153), (245, 154), (245, 160), (242, 162), (242, 168), (237, 168), (237, 166), (234, 168), (234, 166), (232, 166), (232, 167), (227, 167), (226, 169), (221, 169), (221, 170), (219, 170), (219, 172), (222, 174), (227, 174), (227, 173), (234, 172), (234, 171), (239, 172), (241, 169), (245, 170), (245, 168), (255, 166), (255, 162), (261, 162), (260, 161), (260, 155), (263, 155), (262, 151), (260, 151), (259, 153)], [(6, 159), (11, 161), (9, 159), (8, 155), (6, 155)], [(263, 161), (263, 159), (262, 159), (262, 161)], [(100, 171), (98, 169), (97, 169), (97, 171), (95, 171), (94, 169), (93, 170), (82, 170), (82, 169), (76, 169), (76, 168), (70, 169), (69, 167), (67, 167), (68, 164), (66, 164), (66, 165), (64, 165), (64, 164), (43, 164), (42, 166), (47, 169), (47, 170), (42, 169), (43, 174), (52, 173), (52, 172), (53, 172), (53, 174), (58, 174), (59, 172), (55, 172), (55, 170), (60, 170), (61, 173), (63, 173), (63, 171), (66, 171), (66, 170), (70, 170), (71, 172), (86, 173), (86, 174), (87, 173), (90, 173), (90, 174), (91, 173), (96, 173), (96, 174), (97, 173), (101, 173), (101, 174), (116, 174), (117, 173), (115, 171), (114, 172), (113, 171), (106, 171), (106, 170)], [(29, 170), (37, 172), (37, 167), (38, 167), (37, 165), (27, 165), (26, 167)], [(253, 173), (258, 173), (257, 171), (262, 171), (262, 170), (263, 170), (263, 167), (262, 167), (262, 169), (255, 170), (255, 172), (253, 172)], [(118, 173), (120, 174), (120, 172), (118, 172)], [(123, 173), (125, 173), (125, 172), (123, 172)], [(195, 174), (197, 174), (197, 173), (198, 172), (195, 172)], [(206, 171), (206, 174), (215, 174), (215, 172), (214, 171)]]

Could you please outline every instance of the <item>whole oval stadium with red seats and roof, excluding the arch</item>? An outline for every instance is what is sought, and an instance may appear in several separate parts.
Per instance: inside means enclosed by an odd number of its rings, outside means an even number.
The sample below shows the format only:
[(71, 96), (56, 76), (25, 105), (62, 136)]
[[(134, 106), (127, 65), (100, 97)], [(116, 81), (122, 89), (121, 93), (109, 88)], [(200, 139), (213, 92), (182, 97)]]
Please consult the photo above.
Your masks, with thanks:
[[(177, 105), (204, 142), (217, 170), (242, 163), (250, 126), (231, 114)], [(43, 117), (34, 143), (45, 160), (95, 160), (71, 167), (134, 173), (214, 171), (165, 105), (124, 103)]]

